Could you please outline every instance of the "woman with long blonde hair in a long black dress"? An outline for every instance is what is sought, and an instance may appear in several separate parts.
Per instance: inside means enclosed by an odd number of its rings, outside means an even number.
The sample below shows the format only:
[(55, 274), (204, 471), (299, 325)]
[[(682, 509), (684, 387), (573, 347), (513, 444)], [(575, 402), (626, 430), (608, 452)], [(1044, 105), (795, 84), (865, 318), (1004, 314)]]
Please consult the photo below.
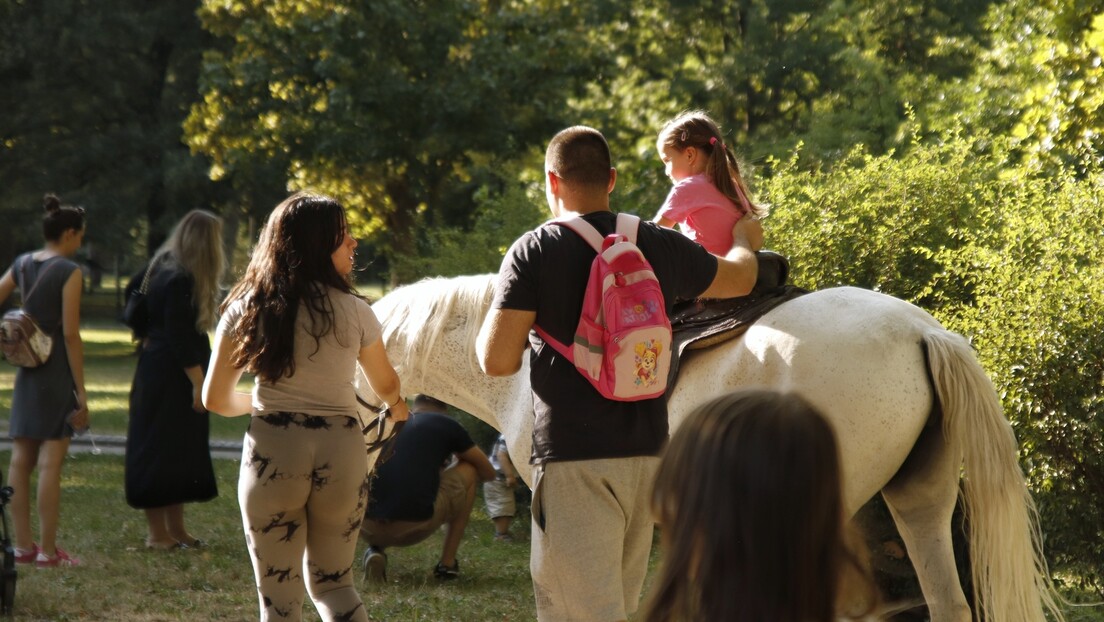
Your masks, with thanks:
[(151, 549), (199, 547), (184, 527), (185, 503), (219, 494), (200, 400), (225, 256), (222, 221), (192, 210), (150, 260), (149, 334), (130, 389), (127, 503), (146, 510)]

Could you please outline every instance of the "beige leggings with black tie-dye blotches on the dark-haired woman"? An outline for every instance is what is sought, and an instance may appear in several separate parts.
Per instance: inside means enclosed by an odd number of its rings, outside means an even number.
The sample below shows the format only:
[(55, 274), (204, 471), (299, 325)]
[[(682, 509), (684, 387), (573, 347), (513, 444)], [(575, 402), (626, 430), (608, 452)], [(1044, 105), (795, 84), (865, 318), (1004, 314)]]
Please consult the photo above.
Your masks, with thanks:
[(322, 620), (368, 620), (352, 577), (367, 470), (355, 418), (251, 419), (237, 499), (262, 622), (298, 622), (305, 583)]

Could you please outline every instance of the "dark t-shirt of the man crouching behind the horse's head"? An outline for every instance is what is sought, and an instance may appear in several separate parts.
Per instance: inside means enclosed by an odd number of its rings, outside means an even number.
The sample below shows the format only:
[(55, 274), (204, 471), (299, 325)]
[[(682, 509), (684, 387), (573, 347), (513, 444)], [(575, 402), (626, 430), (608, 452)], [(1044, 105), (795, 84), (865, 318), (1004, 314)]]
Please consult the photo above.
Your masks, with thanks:
[(475, 446), (455, 419), (415, 412), (395, 436), (394, 453), (375, 468), (368, 517), (375, 520), (426, 520), (440, 486), (440, 470), (452, 454)]

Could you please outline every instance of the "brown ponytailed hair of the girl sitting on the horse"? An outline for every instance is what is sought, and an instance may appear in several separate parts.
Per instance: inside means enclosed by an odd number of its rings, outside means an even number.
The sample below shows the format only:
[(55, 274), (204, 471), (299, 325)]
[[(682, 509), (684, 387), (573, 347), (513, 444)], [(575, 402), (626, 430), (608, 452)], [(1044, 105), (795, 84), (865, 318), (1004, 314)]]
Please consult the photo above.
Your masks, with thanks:
[(679, 151), (688, 147), (698, 149), (705, 156), (705, 173), (713, 186), (736, 209), (755, 218), (766, 215), (765, 207), (752, 202), (736, 155), (724, 144), (720, 128), (704, 112), (688, 110), (667, 122), (659, 130), (657, 143)]

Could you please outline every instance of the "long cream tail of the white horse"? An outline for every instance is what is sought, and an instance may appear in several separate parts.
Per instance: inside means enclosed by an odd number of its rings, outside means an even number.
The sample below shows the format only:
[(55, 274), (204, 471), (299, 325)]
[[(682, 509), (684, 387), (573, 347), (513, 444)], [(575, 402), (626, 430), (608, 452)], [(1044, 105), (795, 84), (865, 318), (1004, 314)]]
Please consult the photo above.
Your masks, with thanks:
[(924, 344), (943, 408), (943, 434), (964, 458), (962, 497), (979, 619), (1043, 622), (1045, 608), (1054, 620), (1064, 620), (1016, 436), (992, 381), (960, 335), (934, 330)]

